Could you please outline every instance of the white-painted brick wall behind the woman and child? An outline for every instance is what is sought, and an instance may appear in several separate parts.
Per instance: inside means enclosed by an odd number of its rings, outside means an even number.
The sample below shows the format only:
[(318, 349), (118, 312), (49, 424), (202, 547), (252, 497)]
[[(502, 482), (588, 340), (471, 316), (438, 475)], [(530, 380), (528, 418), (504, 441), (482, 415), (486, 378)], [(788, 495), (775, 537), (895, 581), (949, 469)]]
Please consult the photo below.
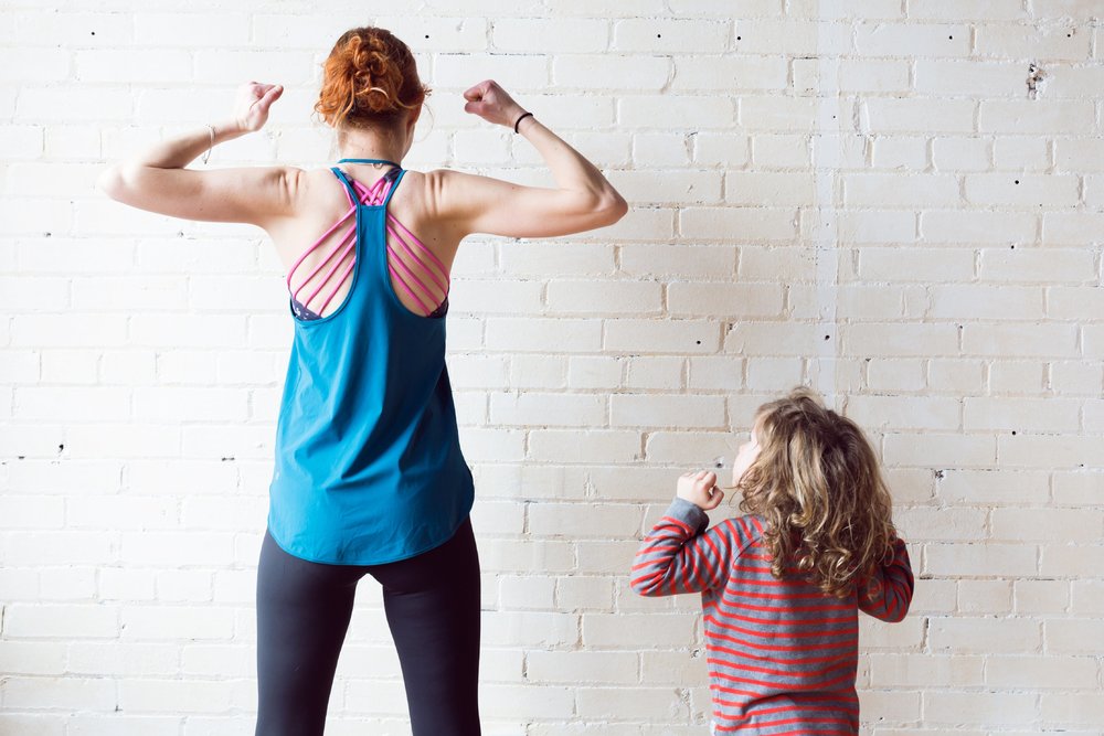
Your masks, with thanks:
[[(705, 733), (697, 601), (639, 599), (626, 570), (679, 470), (731, 457), (799, 382), (869, 428), (920, 577), (903, 623), (863, 623), (866, 733), (1104, 733), (1098, 18), (1089, 0), (9, 0), (0, 733), (252, 734), (279, 265), (252, 228), (92, 184), (248, 77), (288, 92), (213, 163), (322, 166), (318, 62), (365, 22), (435, 89), (410, 166), (548, 181), (460, 111), (492, 75), (634, 204), (595, 233), (471, 238), (456, 263), (488, 734)], [(370, 583), (331, 703), (328, 733), (407, 733)]]

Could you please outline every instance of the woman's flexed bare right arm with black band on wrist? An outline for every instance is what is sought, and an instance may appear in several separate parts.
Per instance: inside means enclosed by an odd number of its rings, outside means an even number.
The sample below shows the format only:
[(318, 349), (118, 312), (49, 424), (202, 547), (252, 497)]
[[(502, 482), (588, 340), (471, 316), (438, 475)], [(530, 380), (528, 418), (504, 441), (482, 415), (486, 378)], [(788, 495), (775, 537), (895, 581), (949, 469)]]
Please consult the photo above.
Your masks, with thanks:
[[(512, 128), (524, 109), (495, 82), (481, 82), (464, 93), (464, 109)], [(488, 233), (509, 237), (551, 237), (612, 225), (628, 205), (594, 164), (533, 117), (519, 132), (544, 159), (555, 189), (522, 186), (459, 173), (427, 174), (435, 213), (455, 223), (463, 235)]]

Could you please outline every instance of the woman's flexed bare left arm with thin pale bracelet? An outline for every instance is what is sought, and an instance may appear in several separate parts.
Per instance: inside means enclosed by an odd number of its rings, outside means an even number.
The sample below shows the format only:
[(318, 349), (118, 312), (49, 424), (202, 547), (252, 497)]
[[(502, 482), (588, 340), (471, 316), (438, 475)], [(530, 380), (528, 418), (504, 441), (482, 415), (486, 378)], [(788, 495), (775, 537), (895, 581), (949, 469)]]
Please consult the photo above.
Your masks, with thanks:
[(185, 220), (244, 222), (265, 227), (291, 214), (301, 171), (254, 167), (195, 171), (185, 169), (210, 146), (259, 130), (279, 99), (279, 85), (251, 82), (238, 89), (226, 122), (162, 141), (108, 168), (96, 182), (113, 200)]

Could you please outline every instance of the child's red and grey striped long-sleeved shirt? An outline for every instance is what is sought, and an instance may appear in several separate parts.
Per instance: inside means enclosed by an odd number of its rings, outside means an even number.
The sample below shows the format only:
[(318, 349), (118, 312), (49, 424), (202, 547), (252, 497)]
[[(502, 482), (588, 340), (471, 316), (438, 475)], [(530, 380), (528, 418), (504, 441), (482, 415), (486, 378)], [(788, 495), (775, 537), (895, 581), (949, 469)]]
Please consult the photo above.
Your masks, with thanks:
[(675, 499), (640, 545), (631, 583), (643, 596), (701, 594), (713, 733), (858, 734), (858, 611), (904, 618), (913, 590), (904, 542), (895, 540), (892, 562), (839, 599), (771, 574), (762, 518), (704, 532), (708, 523), (697, 505)]

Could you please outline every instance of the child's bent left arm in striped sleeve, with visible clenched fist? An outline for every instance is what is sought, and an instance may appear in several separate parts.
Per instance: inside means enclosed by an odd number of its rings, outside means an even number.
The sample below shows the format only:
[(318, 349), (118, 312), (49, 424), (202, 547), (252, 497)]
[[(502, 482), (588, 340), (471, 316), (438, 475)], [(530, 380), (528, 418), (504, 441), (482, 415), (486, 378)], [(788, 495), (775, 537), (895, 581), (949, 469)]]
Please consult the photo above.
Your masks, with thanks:
[(715, 508), (724, 497), (713, 488), (715, 482), (716, 476), (707, 472), (679, 479), (679, 498), (636, 553), (631, 585), (638, 594), (672, 596), (724, 585), (739, 545), (731, 524), (719, 524), (702, 534), (709, 525), (703, 508)]

